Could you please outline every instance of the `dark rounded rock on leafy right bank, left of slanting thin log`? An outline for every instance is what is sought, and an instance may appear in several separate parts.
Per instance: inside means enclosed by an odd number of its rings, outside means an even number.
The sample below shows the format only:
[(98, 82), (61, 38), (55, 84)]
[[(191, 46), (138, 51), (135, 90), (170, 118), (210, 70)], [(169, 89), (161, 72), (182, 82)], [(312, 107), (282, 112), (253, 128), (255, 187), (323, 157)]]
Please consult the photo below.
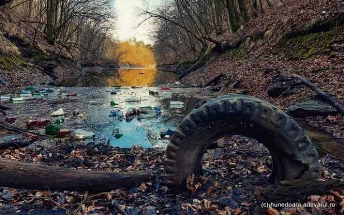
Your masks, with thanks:
[(289, 96), (298, 92), (301, 88), (300, 81), (292, 76), (277, 74), (273, 77), (267, 93), (271, 97)]

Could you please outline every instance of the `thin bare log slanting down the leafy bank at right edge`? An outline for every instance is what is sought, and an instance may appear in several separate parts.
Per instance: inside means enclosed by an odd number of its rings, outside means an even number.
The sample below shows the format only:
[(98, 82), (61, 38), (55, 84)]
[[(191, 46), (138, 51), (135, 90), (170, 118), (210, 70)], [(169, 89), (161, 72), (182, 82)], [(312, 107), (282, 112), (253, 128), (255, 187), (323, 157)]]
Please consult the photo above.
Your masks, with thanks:
[(316, 87), (314, 84), (312, 84), (311, 82), (309, 82), (307, 79), (297, 75), (297, 74), (293, 74), (293, 77), (297, 80), (300, 80), (301, 83), (303, 85), (305, 85), (306, 87), (311, 88), (315, 93), (318, 94), (318, 96), (323, 99), (324, 101), (326, 101), (328, 104), (332, 105), (333, 107), (335, 107), (337, 109), (337, 111), (339, 113), (341, 113), (342, 115), (344, 115), (344, 108), (338, 103), (338, 101), (336, 101), (336, 99), (334, 99), (332, 96), (330, 96), (329, 94), (326, 94), (325, 92), (323, 92), (322, 90), (320, 90), (318, 87)]

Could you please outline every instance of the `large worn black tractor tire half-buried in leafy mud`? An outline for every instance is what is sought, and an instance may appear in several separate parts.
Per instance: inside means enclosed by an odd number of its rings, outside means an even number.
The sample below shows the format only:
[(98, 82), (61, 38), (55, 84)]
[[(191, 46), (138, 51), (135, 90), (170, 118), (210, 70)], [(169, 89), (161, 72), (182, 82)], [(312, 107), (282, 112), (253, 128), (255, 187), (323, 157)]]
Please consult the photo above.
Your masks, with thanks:
[(166, 183), (185, 188), (189, 175), (201, 174), (206, 149), (229, 135), (263, 143), (272, 155), (277, 182), (320, 176), (315, 147), (295, 120), (257, 97), (228, 95), (207, 101), (182, 120), (167, 147)]

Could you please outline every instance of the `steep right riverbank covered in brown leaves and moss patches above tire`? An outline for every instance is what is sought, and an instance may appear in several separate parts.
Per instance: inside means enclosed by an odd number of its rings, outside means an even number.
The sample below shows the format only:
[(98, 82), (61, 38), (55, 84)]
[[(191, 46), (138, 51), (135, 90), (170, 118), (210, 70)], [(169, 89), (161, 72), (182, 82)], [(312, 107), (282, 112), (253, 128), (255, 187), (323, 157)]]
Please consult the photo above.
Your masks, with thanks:
[[(282, 110), (318, 99), (308, 88), (291, 86), (282, 87), (280, 94), (271, 96), (269, 89), (273, 83), (280, 80), (283, 86), (290, 75), (298, 74), (343, 105), (343, 4), (319, 0), (288, 0), (280, 4), (252, 19), (238, 33), (224, 36), (226, 45), (222, 50), (209, 49), (201, 58), (189, 59), (190, 63), (169, 62), (160, 67), (175, 69), (182, 74), (181, 81), (185, 84), (258, 96)], [(343, 117), (300, 120), (335, 137), (344, 137)]]

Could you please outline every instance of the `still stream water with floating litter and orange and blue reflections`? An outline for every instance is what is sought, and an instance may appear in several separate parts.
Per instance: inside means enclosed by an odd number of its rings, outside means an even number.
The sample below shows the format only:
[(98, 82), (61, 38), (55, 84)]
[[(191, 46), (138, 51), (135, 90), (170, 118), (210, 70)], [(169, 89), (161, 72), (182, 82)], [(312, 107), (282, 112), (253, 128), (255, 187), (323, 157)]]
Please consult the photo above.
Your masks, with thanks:
[[(16, 125), (25, 127), (25, 121), (28, 119), (47, 118), (54, 121), (56, 118), (51, 117), (51, 113), (63, 108), (65, 121), (61, 128), (80, 128), (93, 132), (95, 137), (84, 140), (86, 143), (107, 142), (123, 148), (133, 145), (152, 147), (153, 140), (154, 144), (166, 147), (168, 141), (161, 139), (160, 133), (167, 129), (175, 130), (198, 101), (216, 97), (216, 92), (206, 91), (204, 88), (189, 88), (176, 84), (178, 80), (174, 73), (161, 72), (154, 68), (121, 69), (118, 72), (110, 70), (106, 75), (79, 77), (77, 81), (77, 86), (82, 87), (56, 87), (61, 93), (77, 93), (75, 97), (52, 96), (12, 104), (5, 101), (5, 105), (12, 108), (7, 112), (8, 116), (17, 116)], [(20, 89), (11, 89), (10, 93), (19, 91)], [(149, 91), (158, 92), (158, 95), (149, 95)], [(139, 100), (129, 102), (128, 99), (133, 97)], [(118, 105), (112, 107), (111, 101)], [(114, 110), (119, 110), (125, 115), (130, 108), (140, 107), (158, 107), (161, 113), (151, 111), (151, 116), (134, 117), (130, 120), (126, 120), (125, 117), (117, 119), (113, 114)], [(79, 110), (86, 118), (73, 116), (74, 110)], [(310, 136), (320, 156), (329, 153), (344, 162), (342, 139), (308, 125), (301, 126)], [(122, 136), (115, 136), (114, 131)], [(44, 130), (39, 129), (39, 132), (44, 133)], [(20, 137), (1, 134), (0, 136), (0, 141)]]

